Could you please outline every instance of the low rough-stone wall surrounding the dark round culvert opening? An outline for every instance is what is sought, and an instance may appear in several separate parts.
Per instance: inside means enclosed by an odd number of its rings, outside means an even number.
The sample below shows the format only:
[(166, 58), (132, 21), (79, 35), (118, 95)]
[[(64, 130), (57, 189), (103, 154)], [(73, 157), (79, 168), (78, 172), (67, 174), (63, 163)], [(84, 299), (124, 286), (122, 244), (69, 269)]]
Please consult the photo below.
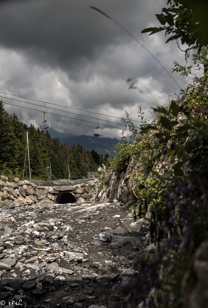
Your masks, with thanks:
[(19, 206), (40, 204), (42, 206), (56, 203), (60, 193), (70, 193), (77, 202), (85, 202), (93, 187), (93, 181), (75, 186), (36, 186), (27, 180), (18, 178), (10, 181), (6, 176), (0, 176), (0, 208), (13, 209)]

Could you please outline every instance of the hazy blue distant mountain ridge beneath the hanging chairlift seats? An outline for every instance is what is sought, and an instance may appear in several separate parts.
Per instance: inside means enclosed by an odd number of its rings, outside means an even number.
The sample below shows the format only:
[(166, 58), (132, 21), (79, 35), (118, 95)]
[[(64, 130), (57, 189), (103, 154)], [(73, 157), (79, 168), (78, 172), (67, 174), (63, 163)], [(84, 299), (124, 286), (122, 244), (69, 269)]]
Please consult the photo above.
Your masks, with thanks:
[(67, 144), (70, 146), (74, 144), (77, 146), (79, 143), (83, 148), (86, 148), (86, 150), (94, 150), (98, 154), (106, 155), (108, 154), (110, 157), (116, 156), (115, 152), (116, 145), (118, 143), (118, 139), (111, 139), (111, 138), (104, 138), (104, 137), (94, 137), (94, 136), (86, 136), (86, 135), (80, 135), (80, 136), (73, 136), (73, 137), (67, 137), (67, 138), (60, 138), (60, 144), (64, 143), (64, 140), (67, 141)]

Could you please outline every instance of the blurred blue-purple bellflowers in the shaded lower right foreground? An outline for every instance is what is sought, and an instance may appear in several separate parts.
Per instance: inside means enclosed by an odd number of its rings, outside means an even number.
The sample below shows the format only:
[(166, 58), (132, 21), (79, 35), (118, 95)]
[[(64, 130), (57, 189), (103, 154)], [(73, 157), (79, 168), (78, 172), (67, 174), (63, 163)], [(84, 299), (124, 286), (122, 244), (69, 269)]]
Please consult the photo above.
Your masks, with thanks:
[[(189, 182), (188, 184), (183, 181), (173, 180), (173, 186), (166, 189), (166, 208), (168, 211), (168, 217), (166, 217), (166, 227), (170, 231), (170, 237), (167, 241), (160, 241), (158, 243), (158, 252), (153, 254), (148, 260), (138, 260), (133, 264), (135, 274), (130, 282), (123, 284), (123, 292), (126, 296), (126, 300), (132, 303), (132, 307), (137, 307), (142, 302), (144, 308), (150, 308), (154, 306), (152, 301), (148, 301), (146, 298), (150, 290), (154, 288), (160, 288), (160, 281), (158, 278), (158, 270), (163, 264), (164, 255), (169, 252), (169, 249), (174, 249), (176, 252), (182, 252), (189, 248), (190, 241), (193, 236), (193, 213), (196, 210), (207, 205), (207, 197), (202, 194), (199, 196), (199, 191), (196, 191), (196, 187)], [(152, 213), (153, 219), (154, 207), (149, 206), (149, 212)], [(197, 214), (198, 215), (198, 214)], [(164, 217), (162, 217), (164, 220)], [(157, 226), (159, 225), (157, 221)], [(208, 224), (208, 222), (207, 222)], [(152, 226), (156, 226), (155, 222)], [(166, 228), (166, 232), (167, 232)], [(143, 228), (140, 227), (139, 232), (142, 232)], [(155, 237), (152, 241), (157, 241), (156, 238), (158, 232), (155, 232)], [(172, 294), (170, 301), (174, 302), (177, 298), (176, 294)], [(124, 304), (122, 305), (124, 307)]]

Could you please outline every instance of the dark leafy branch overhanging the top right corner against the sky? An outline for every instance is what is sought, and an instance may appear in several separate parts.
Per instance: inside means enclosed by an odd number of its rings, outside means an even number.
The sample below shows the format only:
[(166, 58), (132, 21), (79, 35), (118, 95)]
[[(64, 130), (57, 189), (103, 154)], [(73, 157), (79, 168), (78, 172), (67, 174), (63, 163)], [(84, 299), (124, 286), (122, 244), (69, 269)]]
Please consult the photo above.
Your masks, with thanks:
[[(198, 52), (202, 47), (208, 47), (206, 1), (168, 0), (167, 6), (162, 9), (161, 14), (156, 14), (162, 26), (150, 27), (141, 33), (150, 32), (151, 35), (165, 30), (165, 36), (170, 35), (166, 43), (180, 39), (181, 44), (186, 43), (189, 47), (196, 44)], [(186, 49), (186, 57), (189, 56), (190, 49)]]

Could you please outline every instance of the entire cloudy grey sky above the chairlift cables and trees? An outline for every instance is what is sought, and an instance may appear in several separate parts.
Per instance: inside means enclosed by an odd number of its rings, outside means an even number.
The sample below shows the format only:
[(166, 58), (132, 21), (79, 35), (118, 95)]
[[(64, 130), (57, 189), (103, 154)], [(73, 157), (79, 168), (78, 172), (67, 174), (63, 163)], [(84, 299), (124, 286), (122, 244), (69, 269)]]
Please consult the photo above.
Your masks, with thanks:
[[(159, 26), (155, 14), (165, 5), (164, 0), (0, 2), (0, 91), (12, 94), (0, 93), (5, 109), (35, 128), (43, 128), (45, 111), (51, 137), (92, 135), (98, 118), (104, 137), (121, 138), (125, 111), (141, 121), (139, 105), (149, 120), (151, 107), (179, 93), (177, 84), (130, 35), (90, 6), (119, 22), (170, 71), (174, 61), (186, 64), (176, 42), (165, 44), (163, 32), (141, 34)], [(172, 76), (180, 88), (188, 82)], [(128, 90), (130, 78), (138, 90)]]

